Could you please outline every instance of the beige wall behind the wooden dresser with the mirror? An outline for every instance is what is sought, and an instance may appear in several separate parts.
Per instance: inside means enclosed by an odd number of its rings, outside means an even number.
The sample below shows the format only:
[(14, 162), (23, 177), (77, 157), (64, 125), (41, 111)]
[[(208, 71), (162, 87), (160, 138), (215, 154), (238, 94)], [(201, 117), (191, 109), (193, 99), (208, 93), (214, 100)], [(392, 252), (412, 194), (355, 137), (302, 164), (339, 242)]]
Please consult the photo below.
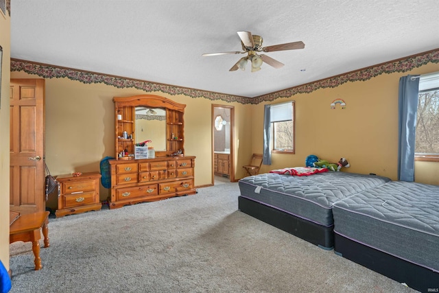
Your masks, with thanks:
[[(12, 72), (11, 78), (40, 78), (20, 72)], [(45, 158), (52, 175), (71, 172), (99, 172), (99, 162), (105, 156), (115, 156), (115, 114), (112, 98), (145, 94), (137, 89), (117, 89), (105, 84), (83, 84), (67, 78), (46, 79), (45, 115), (46, 137)], [(164, 93), (151, 93), (186, 104), (185, 108), (185, 153), (196, 156), (195, 186), (212, 183), (212, 138), (211, 104), (235, 106), (237, 129), (250, 129), (247, 119), (250, 105), (211, 101), (206, 98), (193, 98), (184, 95), (171, 96)], [(241, 148), (250, 150), (248, 131), (241, 140)], [(247, 145), (246, 145), (247, 144)], [(237, 152), (237, 154), (239, 151)], [(241, 158), (235, 165), (244, 165)], [(248, 161), (246, 158), (245, 161)], [(241, 169), (240, 167), (237, 169)], [(240, 171), (240, 170), (239, 170)], [(239, 174), (240, 175), (240, 174)], [(244, 174), (243, 174), (244, 175)], [(101, 200), (108, 197), (109, 190), (101, 187)], [(47, 207), (56, 207), (56, 199), (51, 198)]]

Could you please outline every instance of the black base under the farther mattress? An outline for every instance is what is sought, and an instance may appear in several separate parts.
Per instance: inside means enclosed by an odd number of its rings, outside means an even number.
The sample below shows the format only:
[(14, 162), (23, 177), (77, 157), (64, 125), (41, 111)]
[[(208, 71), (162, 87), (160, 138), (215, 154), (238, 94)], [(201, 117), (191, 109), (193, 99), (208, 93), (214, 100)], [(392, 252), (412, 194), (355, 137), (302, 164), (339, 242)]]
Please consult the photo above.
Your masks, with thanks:
[(268, 207), (260, 202), (249, 200), (242, 196), (238, 197), (238, 209), (267, 224), (275, 226), (287, 233), (311, 242), (325, 250), (331, 250), (334, 246), (333, 226), (325, 227), (298, 218), (291, 213)]

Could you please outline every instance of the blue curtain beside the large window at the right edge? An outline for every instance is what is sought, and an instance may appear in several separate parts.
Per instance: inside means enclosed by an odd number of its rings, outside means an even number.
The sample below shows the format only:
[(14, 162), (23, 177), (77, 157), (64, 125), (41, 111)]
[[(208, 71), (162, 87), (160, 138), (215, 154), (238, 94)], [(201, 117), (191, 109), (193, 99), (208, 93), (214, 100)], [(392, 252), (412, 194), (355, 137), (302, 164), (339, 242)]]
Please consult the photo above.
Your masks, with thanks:
[(414, 181), (414, 148), (419, 75), (399, 79), (398, 180)]

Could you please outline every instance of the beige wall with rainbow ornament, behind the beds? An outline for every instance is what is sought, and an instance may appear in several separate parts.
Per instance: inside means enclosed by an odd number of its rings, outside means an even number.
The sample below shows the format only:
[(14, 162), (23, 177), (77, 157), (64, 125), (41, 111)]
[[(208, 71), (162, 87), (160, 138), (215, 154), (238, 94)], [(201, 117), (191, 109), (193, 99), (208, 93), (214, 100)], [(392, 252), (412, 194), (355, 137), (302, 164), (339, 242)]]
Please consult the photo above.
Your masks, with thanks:
[[(261, 171), (305, 165), (309, 154), (336, 163), (346, 157), (346, 172), (375, 173), (397, 178), (398, 86), (407, 74), (439, 71), (429, 63), (410, 72), (381, 74), (366, 81), (347, 82), (333, 89), (276, 99), (296, 101), (296, 154), (273, 154), (272, 165)], [(334, 99), (346, 108), (331, 109)], [(262, 152), (263, 104), (252, 107), (252, 152)], [(416, 162), (417, 182), (439, 185), (439, 163)]]

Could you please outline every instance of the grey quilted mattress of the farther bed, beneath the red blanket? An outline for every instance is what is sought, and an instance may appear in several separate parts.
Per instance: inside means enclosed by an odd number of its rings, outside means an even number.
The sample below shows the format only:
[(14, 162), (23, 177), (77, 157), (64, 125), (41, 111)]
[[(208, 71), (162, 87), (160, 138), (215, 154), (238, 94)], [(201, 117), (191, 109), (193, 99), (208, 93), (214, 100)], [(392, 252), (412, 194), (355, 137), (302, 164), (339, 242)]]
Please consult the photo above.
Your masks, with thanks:
[(244, 198), (329, 227), (333, 226), (335, 202), (388, 181), (386, 177), (345, 172), (311, 176), (267, 173), (242, 178), (239, 189)]

